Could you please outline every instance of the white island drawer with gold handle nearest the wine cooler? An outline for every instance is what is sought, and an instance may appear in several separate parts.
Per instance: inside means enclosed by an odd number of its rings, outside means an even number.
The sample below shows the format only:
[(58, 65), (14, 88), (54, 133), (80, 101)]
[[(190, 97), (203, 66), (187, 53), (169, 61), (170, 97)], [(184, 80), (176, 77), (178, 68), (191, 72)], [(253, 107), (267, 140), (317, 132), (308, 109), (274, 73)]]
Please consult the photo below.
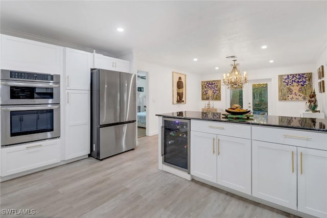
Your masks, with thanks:
[(191, 120), (191, 130), (239, 138), (251, 138), (251, 126), (246, 124)]

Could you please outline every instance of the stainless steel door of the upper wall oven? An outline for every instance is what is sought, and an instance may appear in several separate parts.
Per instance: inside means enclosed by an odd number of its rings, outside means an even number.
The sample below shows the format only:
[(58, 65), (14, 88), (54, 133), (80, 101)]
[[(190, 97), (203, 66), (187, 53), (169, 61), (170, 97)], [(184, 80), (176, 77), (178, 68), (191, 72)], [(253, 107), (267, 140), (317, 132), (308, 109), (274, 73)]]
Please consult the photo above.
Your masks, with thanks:
[[(59, 76), (59, 75), (57, 75)], [(10, 86), (53, 88), (53, 99), (10, 99)], [(60, 84), (52, 82), (30, 82), (17, 80), (2, 80), (1, 105), (27, 105), (27, 104), (59, 104), (60, 103)]]

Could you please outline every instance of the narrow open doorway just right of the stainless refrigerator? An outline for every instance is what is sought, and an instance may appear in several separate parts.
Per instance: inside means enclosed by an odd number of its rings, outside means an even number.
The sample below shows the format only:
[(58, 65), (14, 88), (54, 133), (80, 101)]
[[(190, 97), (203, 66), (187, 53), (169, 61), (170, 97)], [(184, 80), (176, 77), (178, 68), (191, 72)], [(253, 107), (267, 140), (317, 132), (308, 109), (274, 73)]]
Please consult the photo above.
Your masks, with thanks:
[(148, 72), (137, 71), (137, 138), (146, 136)]

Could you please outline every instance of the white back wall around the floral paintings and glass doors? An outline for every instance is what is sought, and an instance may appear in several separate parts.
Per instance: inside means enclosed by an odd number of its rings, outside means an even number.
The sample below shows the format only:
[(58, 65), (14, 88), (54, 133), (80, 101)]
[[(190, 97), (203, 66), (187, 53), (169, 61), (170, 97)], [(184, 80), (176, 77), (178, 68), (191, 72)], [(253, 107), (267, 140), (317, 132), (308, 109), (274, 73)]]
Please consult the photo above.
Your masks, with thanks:
[[(326, 56), (324, 56), (326, 57)], [(320, 64), (321, 65), (321, 64)], [(312, 72), (313, 75), (313, 85), (318, 86), (317, 83), (317, 68), (314, 64), (309, 65), (299, 65), (299, 66), (285, 66), (285, 67), (275, 67), (266, 69), (254, 69), (247, 70), (247, 75), (249, 80), (260, 80), (260, 79), (271, 79), (271, 91), (272, 99), (271, 105), (273, 108), (270, 109), (269, 115), (280, 115), (280, 116), (299, 116), (300, 110), (306, 109), (305, 101), (278, 101), (278, 75), (284, 74), (298, 74), (301, 72)], [(201, 81), (204, 80), (222, 80), (223, 73), (215, 75), (205, 75), (201, 77)], [(315, 87), (315, 86), (314, 86)], [(317, 87), (316, 87), (316, 90)], [(222, 98), (221, 101), (215, 101), (215, 108), (225, 109), (229, 105), (229, 89), (222, 85)], [(205, 101), (200, 101), (200, 105), (204, 107)], [(318, 102), (319, 103), (319, 102)], [(324, 103), (325, 104), (325, 103)], [(320, 105), (320, 104), (319, 104)], [(326, 113), (326, 107), (319, 107), (322, 112)]]

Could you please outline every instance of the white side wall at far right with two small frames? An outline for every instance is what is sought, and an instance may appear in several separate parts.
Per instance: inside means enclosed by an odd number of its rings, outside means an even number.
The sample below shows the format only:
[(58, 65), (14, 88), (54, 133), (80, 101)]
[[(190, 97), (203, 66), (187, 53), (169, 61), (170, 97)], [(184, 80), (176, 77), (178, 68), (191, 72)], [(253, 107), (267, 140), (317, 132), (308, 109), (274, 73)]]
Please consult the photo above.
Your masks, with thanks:
[[(323, 65), (323, 71), (324, 71), (324, 78), (321, 79), (325, 81), (324, 93), (319, 93), (319, 87), (318, 87), (318, 82), (320, 82), (321, 80), (318, 80), (317, 69), (321, 65)], [(317, 94), (318, 110), (324, 112), (326, 118), (327, 117), (327, 42), (322, 47), (321, 53), (315, 63), (313, 72), (314, 72), (313, 84)]]

